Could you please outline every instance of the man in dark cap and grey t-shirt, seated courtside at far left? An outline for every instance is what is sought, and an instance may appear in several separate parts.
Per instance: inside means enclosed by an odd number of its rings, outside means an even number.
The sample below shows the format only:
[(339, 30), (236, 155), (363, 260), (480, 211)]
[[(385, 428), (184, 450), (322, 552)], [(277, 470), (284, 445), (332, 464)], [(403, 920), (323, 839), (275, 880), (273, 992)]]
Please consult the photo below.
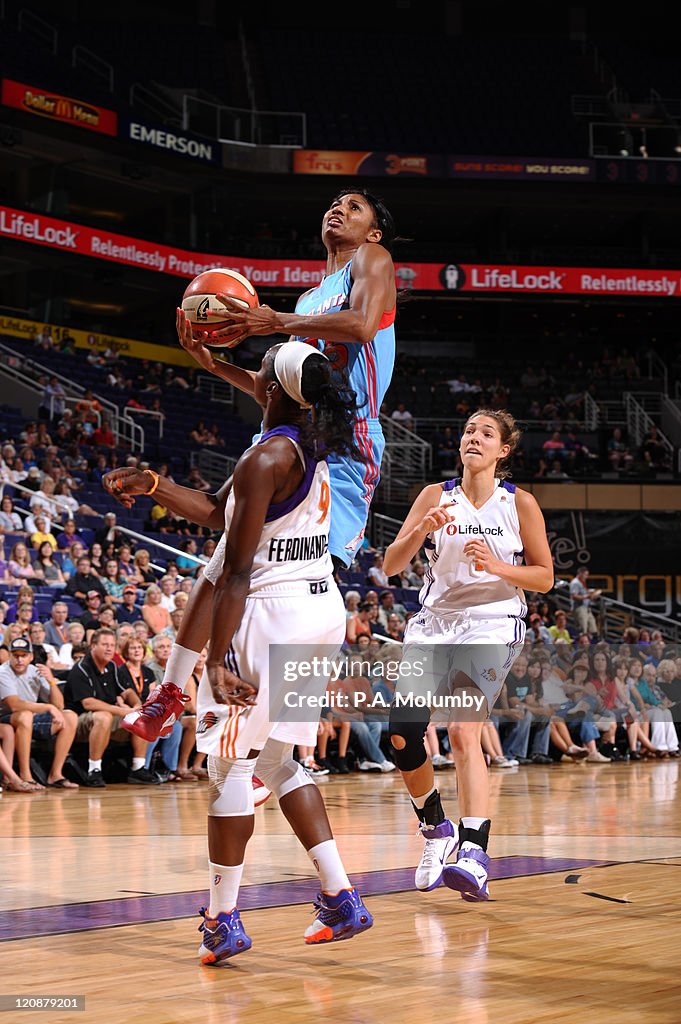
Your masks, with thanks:
[(65, 701), (57, 681), (46, 665), (33, 664), (33, 648), (25, 637), (9, 644), (9, 660), (0, 668), (0, 699), (5, 713), (0, 722), (8, 722), (16, 743), (18, 774), (35, 790), (43, 786), (31, 772), (31, 741), (54, 737), (52, 763), (47, 784), (58, 790), (77, 790), (78, 785), (63, 777), (63, 762), (76, 736), (78, 717), (65, 711)]

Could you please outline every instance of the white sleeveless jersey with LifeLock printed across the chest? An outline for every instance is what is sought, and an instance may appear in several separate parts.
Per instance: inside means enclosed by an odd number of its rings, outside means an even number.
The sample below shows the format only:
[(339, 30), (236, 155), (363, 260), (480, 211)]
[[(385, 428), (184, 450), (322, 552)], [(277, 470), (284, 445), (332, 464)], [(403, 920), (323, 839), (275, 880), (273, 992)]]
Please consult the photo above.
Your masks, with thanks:
[(501, 561), (522, 562), (515, 485), (498, 479), (495, 483), (492, 497), (479, 509), (464, 495), (460, 479), (442, 483), (439, 504), (448, 506), (451, 522), (426, 538), (428, 569), (419, 594), (421, 604), (436, 615), (464, 610), (475, 618), (526, 614), (522, 589), (485, 572), (463, 551), (468, 541), (480, 538)]

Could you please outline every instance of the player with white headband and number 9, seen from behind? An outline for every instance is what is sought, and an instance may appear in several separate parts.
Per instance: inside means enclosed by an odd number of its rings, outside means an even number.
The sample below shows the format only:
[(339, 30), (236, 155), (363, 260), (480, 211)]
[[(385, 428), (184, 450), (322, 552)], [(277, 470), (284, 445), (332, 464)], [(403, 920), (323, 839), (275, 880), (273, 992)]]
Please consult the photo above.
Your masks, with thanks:
[[(269, 680), (270, 642), (292, 650), (303, 645), (311, 660), (334, 657), (345, 637), (345, 607), (329, 554), (326, 456), (359, 457), (352, 440), (355, 396), (332, 382), (325, 355), (300, 342), (270, 348), (254, 383), (263, 432), (237, 463), (224, 502), (224, 554), (216, 551), (205, 569), (214, 595), (197, 697), (197, 746), (209, 755), (211, 780), (211, 895), (199, 951), (206, 965), (251, 946), (238, 894), (254, 827), (254, 771), (275, 794), (320, 876), (305, 942), (349, 939), (373, 924), (345, 873), (322, 795), (293, 757), (294, 744), (314, 743), (317, 714), (304, 722), (274, 721), (281, 680), (273, 679), (271, 689)], [(148, 490), (154, 476), (140, 475)], [(141, 481), (130, 481), (112, 476), (108, 486), (139, 494)], [(326, 678), (320, 683), (323, 693)]]

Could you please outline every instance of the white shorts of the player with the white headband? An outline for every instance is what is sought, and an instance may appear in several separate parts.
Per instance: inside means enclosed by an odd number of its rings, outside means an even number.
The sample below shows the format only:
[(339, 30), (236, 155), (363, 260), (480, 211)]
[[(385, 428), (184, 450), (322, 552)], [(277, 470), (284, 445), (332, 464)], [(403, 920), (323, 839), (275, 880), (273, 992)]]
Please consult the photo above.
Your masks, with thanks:
[[(285, 593), (282, 593), (285, 591)], [(222, 758), (245, 758), (261, 751), (267, 739), (314, 746), (321, 708), (304, 703), (287, 719), (282, 701), (286, 692), (283, 673), (270, 686), (270, 644), (275, 645), (271, 664), (284, 657), (310, 660), (335, 658), (345, 639), (345, 606), (334, 580), (300, 581), (258, 591), (246, 599), (241, 625), (227, 652), (225, 665), (242, 679), (258, 683), (257, 703), (238, 708), (217, 703), (208, 682), (201, 678), (197, 696), (197, 749)], [(328, 677), (305, 679), (290, 688), (322, 696)], [(318, 692), (317, 692), (318, 691)]]

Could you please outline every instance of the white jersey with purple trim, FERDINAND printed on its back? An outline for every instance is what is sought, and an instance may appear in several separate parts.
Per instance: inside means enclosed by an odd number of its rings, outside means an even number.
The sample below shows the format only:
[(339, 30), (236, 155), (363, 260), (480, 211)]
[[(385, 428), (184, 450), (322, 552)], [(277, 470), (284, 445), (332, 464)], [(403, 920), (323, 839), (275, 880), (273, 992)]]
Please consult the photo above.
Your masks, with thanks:
[[(274, 427), (261, 434), (257, 444), (269, 437), (288, 437), (298, 453), (305, 470), (300, 485), (285, 502), (270, 505), (260, 535), (253, 567), (249, 596), (276, 587), (278, 594), (286, 593), (286, 584), (309, 581), (310, 586), (320, 582), (322, 587), (333, 574), (329, 554), (329, 520), (331, 489), (329, 467), (326, 460), (318, 462), (305, 452), (300, 443), (297, 427)], [(255, 445), (253, 445), (255, 447)], [(215, 584), (224, 564), (224, 548), (235, 510), (233, 490), (224, 508), (224, 534), (204, 569), (206, 579)], [(293, 587), (298, 592), (299, 588)]]

